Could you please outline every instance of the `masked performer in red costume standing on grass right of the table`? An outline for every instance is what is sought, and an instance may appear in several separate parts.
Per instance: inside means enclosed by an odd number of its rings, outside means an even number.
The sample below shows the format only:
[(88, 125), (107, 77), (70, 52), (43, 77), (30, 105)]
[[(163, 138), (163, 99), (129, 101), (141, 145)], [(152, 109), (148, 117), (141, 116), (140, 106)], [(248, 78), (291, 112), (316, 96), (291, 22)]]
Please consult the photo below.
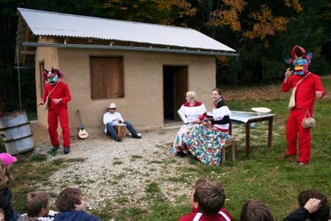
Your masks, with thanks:
[[(300, 50), (298, 57), (295, 50)], [(286, 140), (288, 149), (284, 159), (297, 155), (297, 134), (299, 132), (299, 158), (297, 163), (305, 165), (310, 162), (310, 142), (311, 135), (309, 128), (303, 128), (302, 122), (306, 113), (312, 117), (315, 98), (322, 98), (325, 90), (320, 81), (320, 77), (308, 70), (312, 53), (305, 53), (305, 49), (295, 45), (292, 49), (292, 59), (285, 60), (288, 64), (293, 64), (293, 70), (286, 70), (285, 79), (282, 82), (282, 92), (288, 92), (298, 84), (295, 92), (295, 107), (290, 109), (288, 122), (286, 125)]]

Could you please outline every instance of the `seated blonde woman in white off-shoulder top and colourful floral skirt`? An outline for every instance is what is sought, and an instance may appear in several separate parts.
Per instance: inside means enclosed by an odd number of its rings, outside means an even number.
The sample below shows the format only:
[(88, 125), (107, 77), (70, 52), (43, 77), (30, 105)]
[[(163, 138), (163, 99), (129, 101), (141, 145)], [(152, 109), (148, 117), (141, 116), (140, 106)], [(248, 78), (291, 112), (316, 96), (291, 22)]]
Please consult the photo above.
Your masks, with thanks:
[(219, 164), (221, 148), (225, 144), (227, 135), (211, 126), (206, 116), (206, 107), (196, 101), (195, 92), (186, 93), (186, 103), (182, 105), (181, 110), (190, 123), (179, 129), (174, 139), (172, 153), (179, 156), (191, 153), (204, 164)]

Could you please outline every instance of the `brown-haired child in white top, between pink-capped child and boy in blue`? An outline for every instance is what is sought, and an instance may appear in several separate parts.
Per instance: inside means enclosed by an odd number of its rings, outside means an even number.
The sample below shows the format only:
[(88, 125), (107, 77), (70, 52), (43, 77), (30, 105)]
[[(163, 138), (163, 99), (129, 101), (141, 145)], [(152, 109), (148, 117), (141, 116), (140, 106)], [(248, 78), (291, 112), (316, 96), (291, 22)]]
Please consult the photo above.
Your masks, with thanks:
[(56, 212), (50, 210), (49, 194), (43, 191), (28, 193), (26, 197), (26, 214), (18, 221), (52, 221)]

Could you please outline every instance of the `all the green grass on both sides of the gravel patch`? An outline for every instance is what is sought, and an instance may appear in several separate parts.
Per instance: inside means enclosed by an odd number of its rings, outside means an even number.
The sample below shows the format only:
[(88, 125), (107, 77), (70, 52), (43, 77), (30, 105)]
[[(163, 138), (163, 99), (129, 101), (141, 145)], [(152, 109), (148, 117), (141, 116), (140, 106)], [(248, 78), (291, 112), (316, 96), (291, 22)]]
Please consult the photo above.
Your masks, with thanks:
[[(323, 79), (323, 85), (327, 92), (331, 92), (331, 79)], [(255, 96), (243, 94), (228, 99), (228, 107), (233, 110), (250, 111), (251, 107), (268, 107), (273, 114), (278, 116), (273, 121), (273, 148), (268, 149), (266, 132), (267, 122), (260, 122), (251, 128), (251, 155), (245, 155), (244, 136), (233, 134), (238, 139), (236, 142), (236, 162), (226, 161), (221, 166), (205, 166), (193, 159), (189, 164), (179, 167), (182, 176), (172, 178), (173, 183), (185, 183), (187, 188), (183, 193), (190, 193), (191, 186), (198, 178), (211, 178), (223, 185), (226, 191), (226, 209), (231, 212), (235, 220), (238, 220), (241, 206), (249, 198), (260, 198), (264, 200), (273, 211), (277, 220), (283, 220), (289, 212), (297, 207), (296, 197), (301, 190), (314, 188), (325, 193), (331, 200), (331, 96), (315, 102), (314, 118), (317, 126), (312, 129), (312, 158), (311, 163), (306, 166), (297, 166), (294, 162), (283, 161), (283, 154), (286, 150), (285, 123), (288, 117), (289, 94), (280, 93), (280, 85), (271, 85), (263, 88), (263, 95)], [(243, 88), (231, 88), (232, 91), (245, 92)], [(231, 93), (230, 89), (224, 89), (224, 97)], [(252, 89), (256, 91), (258, 88)], [(276, 92), (278, 94), (273, 95)], [(231, 96), (228, 96), (231, 97)], [(243, 99), (242, 99), (243, 98)], [(234, 125), (243, 128), (243, 124)], [(244, 130), (242, 130), (244, 131)], [(243, 132), (244, 133), (244, 132)], [(172, 141), (169, 141), (169, 143)], [(171, 147), (165, 146), (169, 150)], [(230, 154), (227, 154), (230, 156)], [(16, 177), (15, 185), (12, 187), (15, 193), (14, 203), (23, 210), (26, 193), (33, 188), (33, 183), (38, 180), (47, 180), (48, 176), (63, 167), (65, 163), (61, 160), (49, 163), (49, 166), (37, 168), (36, 162), (44, 161), (47, 156), (33, 156), (20, 158), (14, 166)], [(80, 161), (82, 159), (77, 159)], [(164, 165), (163, 165), (164, 166)], [(34, 173), (38, 171), (39, 173)], [(194, 179), (189, 179), (189, 178)], [(194, 181), (192, 181), (194, 180)], [(109, 220), (177, 220), (190, 212), (189, 199), (179, 196), (174, 203), (167, 202), (164, 193), (159, 188), (158, 182), (152, 182), (145, 186), (146, 198), (149, 200), (149, 207), (126, 207), (116, 214), (112, 213), (112, 205), (107, 205), (109, 210), (89, 211), (94, 215)], [(53, 197), (53, 196), (52, 196)], [(123, 196), (118, 200), (125, 201)], [(107, 204), (107, 202), (105, 202)]]

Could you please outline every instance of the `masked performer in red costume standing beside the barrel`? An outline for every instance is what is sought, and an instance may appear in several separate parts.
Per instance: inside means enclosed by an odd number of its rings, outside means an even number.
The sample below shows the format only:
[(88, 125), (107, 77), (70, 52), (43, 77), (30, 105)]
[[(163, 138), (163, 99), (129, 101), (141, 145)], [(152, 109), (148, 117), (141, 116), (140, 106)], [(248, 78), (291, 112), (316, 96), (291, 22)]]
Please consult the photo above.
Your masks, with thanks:
[(68, 85), (61, 79), (63, 73), (58, 69), (51, 71), (44, 70), (43, 75), (48, 81), (43, 90), (43, 97), (38, 102), (39, 105), (46, 104), (48, 98), (48, 133), (53, 145), (52, 151), (57, 151), (60, 142), (58, 141), (58, 121), (61, 124), (63, 137), (63, 152), (70, 153), (70, 130), (67, 104), (70, 102), (71, 96)]

